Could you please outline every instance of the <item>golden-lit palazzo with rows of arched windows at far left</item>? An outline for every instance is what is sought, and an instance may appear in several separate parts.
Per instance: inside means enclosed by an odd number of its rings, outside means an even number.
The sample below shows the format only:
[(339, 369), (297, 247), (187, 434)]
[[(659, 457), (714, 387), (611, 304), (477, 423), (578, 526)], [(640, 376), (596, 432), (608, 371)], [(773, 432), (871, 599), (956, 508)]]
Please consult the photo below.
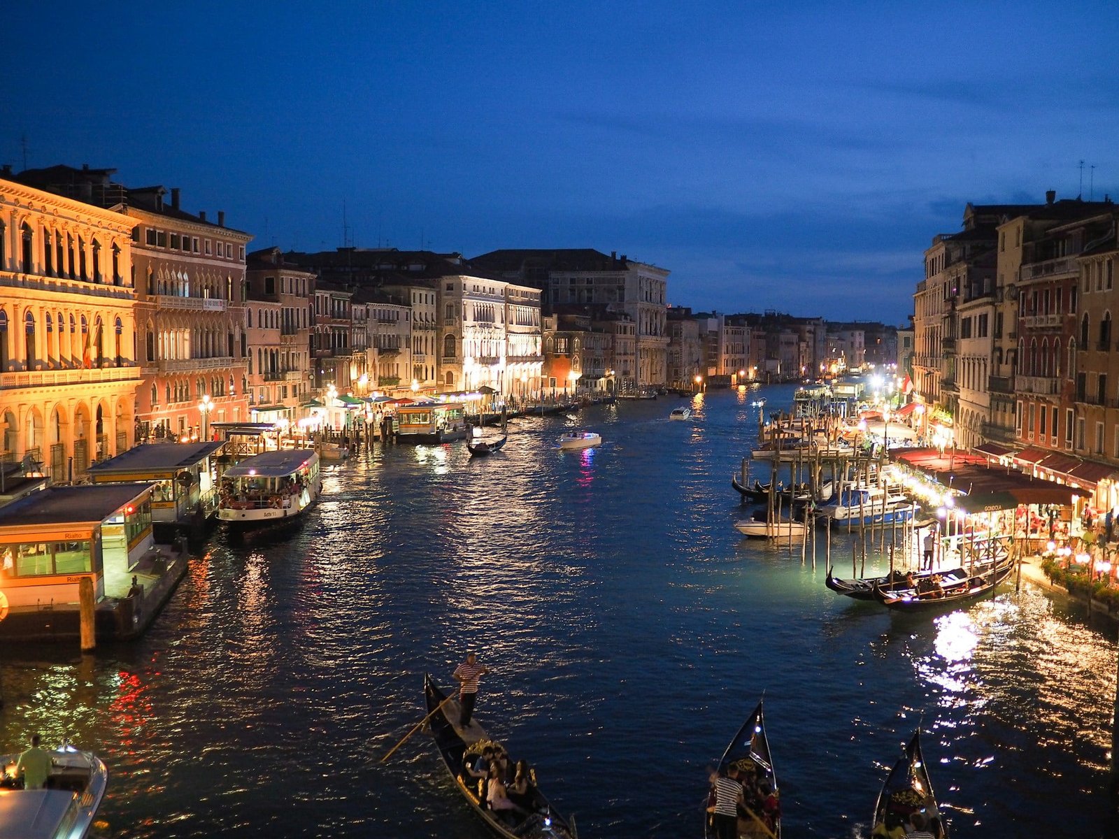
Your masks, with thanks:
[(0, 177), (0, 459), (75, 480), (132, 445), (133, 221), (12, 177)]

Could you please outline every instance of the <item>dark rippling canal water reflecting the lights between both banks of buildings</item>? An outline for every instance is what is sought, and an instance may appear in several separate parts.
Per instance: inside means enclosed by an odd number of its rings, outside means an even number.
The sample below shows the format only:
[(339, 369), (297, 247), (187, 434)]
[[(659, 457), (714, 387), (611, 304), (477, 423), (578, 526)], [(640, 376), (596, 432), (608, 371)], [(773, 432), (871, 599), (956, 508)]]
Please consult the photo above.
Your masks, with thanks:
[[(1028, 583), (895, 615), (744, 541), (730, 479), (758, 394), (706, 394), (687, 422), (677, 397), (529, 418), (488, 459), (330, 466), (294, 531), (218, 532), (141, 641), (0, 652), (0, 743), (101, 754), (101, 837), (480, 839), (425, 733), (379, 762), (424, 715), (423, 673), (450, 685), (477, 650), (477, 717), (583, 837), (700, 836), (707, 767), (763, 694), (786, 837), (868, 836), (918, 726), (953, 836), (1099, 836), (1113, 628)], [(576, 426), (603, 446), (557, 452)]]

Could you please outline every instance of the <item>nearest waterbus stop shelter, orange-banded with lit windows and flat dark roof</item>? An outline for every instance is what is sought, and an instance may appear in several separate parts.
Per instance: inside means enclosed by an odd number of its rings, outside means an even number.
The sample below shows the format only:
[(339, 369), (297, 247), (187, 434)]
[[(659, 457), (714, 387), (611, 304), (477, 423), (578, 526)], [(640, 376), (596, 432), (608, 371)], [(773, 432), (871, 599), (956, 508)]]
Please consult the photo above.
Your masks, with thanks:
[(50, 487), (0, 507), (0, 595), (13, 611), (76, 609), (82, 577), (102, 600), (151, 548), (151, 484)]

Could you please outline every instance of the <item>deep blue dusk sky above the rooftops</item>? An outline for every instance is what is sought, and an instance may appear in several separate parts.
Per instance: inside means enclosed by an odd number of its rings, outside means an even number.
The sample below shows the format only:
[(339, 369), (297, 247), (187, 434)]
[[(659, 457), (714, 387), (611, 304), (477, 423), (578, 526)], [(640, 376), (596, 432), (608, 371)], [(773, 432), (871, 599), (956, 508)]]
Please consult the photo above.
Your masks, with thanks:
[(900, 323), (967, 201), (1119, 191), (1111, 2), (3, 17), (0, 162), (180, 187), (251, 248), (593, 247), (675, 305)]

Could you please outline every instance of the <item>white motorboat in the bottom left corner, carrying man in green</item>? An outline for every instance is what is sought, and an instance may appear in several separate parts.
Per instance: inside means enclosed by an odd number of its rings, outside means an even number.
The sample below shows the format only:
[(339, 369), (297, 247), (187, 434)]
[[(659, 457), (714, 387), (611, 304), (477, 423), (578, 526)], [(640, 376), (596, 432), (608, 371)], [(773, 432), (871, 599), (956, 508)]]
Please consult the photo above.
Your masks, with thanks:
[(109, 784), (105, 764), (65, 743), (49, 754), (43, 790), (22, 789), (19, 754), (0, 757), (0, 839), (81, 839), (90, 832)]

